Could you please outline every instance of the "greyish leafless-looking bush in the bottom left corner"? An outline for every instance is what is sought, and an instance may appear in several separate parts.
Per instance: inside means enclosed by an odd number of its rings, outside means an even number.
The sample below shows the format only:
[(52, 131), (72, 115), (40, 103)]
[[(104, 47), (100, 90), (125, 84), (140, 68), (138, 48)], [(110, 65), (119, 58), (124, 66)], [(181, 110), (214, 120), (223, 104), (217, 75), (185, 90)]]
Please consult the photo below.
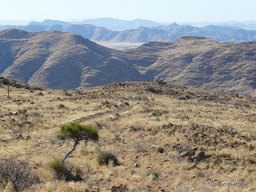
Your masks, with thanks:
[(22, 191), (40, 181), (28, 162), (16, 158), (1, 159), (0, 184), (5, 188), (8, 182), (12, 183), (15, 191)]

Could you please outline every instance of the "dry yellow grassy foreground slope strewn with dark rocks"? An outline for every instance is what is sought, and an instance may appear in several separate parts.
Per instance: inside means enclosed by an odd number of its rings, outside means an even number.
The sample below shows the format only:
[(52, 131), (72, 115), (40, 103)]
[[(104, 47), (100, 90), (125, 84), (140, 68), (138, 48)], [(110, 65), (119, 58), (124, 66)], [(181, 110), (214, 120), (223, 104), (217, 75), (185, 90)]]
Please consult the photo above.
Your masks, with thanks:
[[(1, 156), (29, 162), (40, 180), (26, 191), (256, 190), (255, 98), (162, 81), (49, 90), (11, 80), (7, 99), (8, 80), (0, 85)], [(98, 129), (98, 142), (66, 159), (80, 182), (50, 169), (73, 146), (60, 135), (69, 122)], [(102, 151), (118, 163), (100, 165)]]

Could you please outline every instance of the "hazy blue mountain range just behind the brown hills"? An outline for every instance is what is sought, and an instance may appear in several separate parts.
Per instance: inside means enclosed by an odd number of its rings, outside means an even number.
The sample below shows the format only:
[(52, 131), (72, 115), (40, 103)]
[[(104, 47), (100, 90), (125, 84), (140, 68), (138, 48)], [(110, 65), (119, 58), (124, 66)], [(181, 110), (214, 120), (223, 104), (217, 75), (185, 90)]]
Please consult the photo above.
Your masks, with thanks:
[[(46, 20), (44, 23), (54, 24), (58, 21)], [(218, 42), (256, 41), (256, 30), (242, 30), (238, 27), (229, 26), (180, 26), (177, 23), (169, 26), (139, 27), (135, 30), (123, 31), (108, 30), (105, 27), (90, 24), (2, 26), (0, 29), (20, 29), (27, 32), (58, 30), (79, 34), (84, 38), (98, 42), (173, 42), (183, 36), (205, 37)]]

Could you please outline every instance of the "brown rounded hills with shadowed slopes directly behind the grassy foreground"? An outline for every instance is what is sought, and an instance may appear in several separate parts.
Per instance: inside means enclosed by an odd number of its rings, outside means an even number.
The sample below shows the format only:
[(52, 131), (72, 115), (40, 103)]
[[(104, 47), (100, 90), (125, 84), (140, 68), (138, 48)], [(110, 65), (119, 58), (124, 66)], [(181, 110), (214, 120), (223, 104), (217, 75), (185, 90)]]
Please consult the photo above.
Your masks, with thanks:
[(0, 74), (33, 86), (74, 89), (163, 79), (256, 95), (256, 42), (219, 43), (186, 36), (113, 50), (78, 34), (0, 31)]

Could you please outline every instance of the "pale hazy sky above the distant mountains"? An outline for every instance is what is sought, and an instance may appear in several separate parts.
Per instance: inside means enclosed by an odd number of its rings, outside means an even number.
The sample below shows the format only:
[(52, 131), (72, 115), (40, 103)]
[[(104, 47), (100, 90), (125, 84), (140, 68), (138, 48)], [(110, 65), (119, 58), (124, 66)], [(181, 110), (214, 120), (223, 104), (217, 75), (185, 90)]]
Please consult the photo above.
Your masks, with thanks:
[(145, 18), (158, 22), (256, 20), (256, 0), (0, 0), (0, 20)]

